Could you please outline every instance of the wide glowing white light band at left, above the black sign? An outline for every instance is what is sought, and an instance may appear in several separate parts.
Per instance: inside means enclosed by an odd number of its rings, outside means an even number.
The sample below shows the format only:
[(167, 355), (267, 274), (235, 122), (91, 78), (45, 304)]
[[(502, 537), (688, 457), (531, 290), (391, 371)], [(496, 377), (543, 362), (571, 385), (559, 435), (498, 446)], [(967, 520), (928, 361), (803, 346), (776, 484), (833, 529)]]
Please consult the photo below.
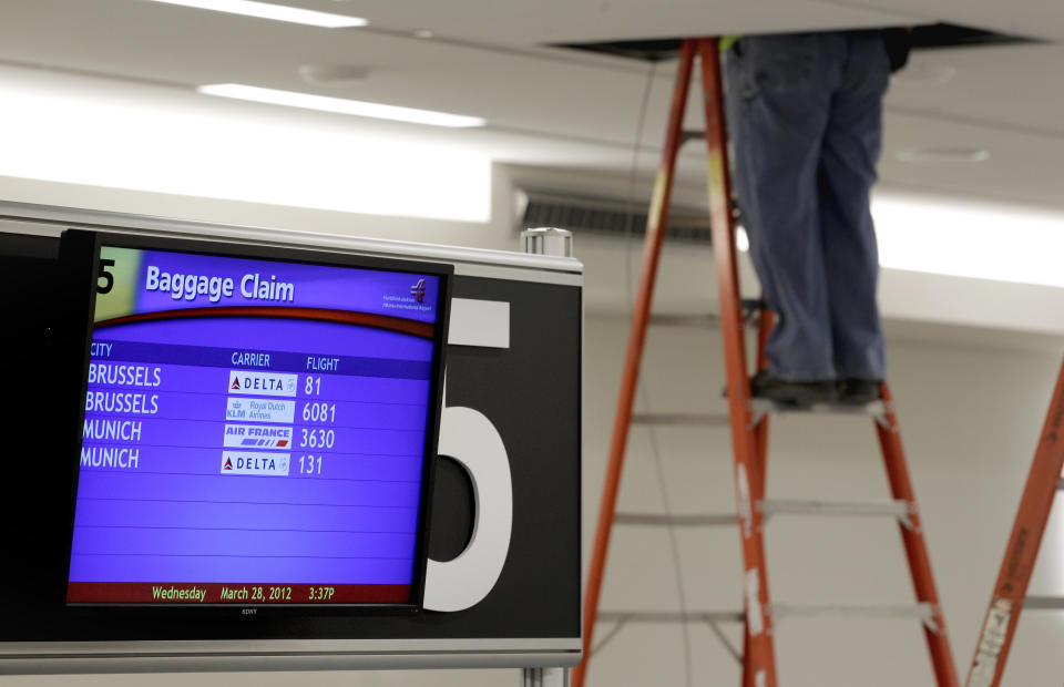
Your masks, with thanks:
[[(0, 102), (0, 177), (389, 217), (381, 230), (408, 226), (392, 217), (491, 218), (491, 161), (463, 143), (293, 125), (290, 112), (235, 110), (188, 91), (2, 65)], [(79, 197), (76, 187), (55, 193)], [(151, 198), (154, 214), (195, 202)], [(446, 239), (447, 225), (437, 226), (436, 240)]]

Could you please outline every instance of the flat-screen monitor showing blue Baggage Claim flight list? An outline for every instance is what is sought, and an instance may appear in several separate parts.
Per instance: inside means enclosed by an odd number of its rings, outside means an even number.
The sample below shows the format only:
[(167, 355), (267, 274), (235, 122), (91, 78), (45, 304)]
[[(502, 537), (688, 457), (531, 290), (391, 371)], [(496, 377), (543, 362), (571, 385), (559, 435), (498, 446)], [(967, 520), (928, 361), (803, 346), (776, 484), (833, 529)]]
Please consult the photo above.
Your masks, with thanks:
[(66, 603), (420, 606), (452, 268), (81, 242)]

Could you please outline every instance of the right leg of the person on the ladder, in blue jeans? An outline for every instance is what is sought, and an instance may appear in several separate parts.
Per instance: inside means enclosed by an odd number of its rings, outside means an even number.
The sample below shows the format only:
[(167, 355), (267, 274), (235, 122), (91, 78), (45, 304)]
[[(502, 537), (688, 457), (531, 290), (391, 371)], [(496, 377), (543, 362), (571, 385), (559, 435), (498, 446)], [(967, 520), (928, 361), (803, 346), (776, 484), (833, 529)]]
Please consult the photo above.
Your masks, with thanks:
[(819, 170), (823, 267), (835, 370), (840, 379), (878, 381), (886, 376), (886, 352), (869, 193), (882, 142), (890, 63), (877, 34), (850, 34), (847, 43), (849, 59), (831, 100)]

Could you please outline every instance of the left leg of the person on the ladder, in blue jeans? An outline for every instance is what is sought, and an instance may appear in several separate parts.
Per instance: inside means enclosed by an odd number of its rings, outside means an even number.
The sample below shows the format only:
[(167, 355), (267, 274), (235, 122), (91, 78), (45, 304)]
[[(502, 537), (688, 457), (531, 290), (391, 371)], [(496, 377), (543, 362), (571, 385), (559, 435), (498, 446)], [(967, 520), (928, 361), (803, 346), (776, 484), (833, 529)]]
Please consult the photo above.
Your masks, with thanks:
[(788, 381), (836, 377), (817, 186), (843, 48), (839, 34), (745, 37), (728, 55), (735, 185), (778, 316), (768, 371)]

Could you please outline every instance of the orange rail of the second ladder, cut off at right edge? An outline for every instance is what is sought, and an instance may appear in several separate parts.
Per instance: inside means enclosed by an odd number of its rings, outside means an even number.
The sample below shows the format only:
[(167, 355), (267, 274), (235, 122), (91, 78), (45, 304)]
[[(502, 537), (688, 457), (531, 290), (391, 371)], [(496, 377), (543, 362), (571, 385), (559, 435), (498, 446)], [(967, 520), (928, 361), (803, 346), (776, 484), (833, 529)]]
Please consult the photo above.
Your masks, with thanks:
[(1016, 520), (1009, 535), (1005, 556), (994, 583), (990, 607), (980, 628), (975, 657), (968, 675), (969, 687), (998, 687), (1023, 611), (1031, 573), (1045, 534), (1057, 481), (1064, 469), (1064, 363), (1056, 378), (1023, 489)]

